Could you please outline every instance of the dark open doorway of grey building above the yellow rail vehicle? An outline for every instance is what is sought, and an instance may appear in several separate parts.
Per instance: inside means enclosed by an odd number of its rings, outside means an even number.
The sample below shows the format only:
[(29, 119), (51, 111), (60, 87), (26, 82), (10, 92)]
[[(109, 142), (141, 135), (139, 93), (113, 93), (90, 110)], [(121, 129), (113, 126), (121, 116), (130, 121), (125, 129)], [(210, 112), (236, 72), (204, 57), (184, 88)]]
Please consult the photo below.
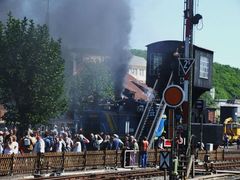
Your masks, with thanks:
[(223, 123), (225, 119), (231, 117), (234, 121), (237, 121), (238, 107), (234, 105), (221, 106), (220, 109), (220, 122)]

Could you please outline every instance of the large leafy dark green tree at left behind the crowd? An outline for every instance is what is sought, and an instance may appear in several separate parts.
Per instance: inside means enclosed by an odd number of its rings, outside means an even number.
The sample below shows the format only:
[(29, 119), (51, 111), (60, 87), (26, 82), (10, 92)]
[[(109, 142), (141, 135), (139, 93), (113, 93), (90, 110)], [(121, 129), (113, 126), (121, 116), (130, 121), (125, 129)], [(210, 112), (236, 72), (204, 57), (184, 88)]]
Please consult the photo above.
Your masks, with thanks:
[(45, 123), (65, 110), (61, 43), (46, 25), (15, 19), (0, 22), (0, 103), (8, 123)]

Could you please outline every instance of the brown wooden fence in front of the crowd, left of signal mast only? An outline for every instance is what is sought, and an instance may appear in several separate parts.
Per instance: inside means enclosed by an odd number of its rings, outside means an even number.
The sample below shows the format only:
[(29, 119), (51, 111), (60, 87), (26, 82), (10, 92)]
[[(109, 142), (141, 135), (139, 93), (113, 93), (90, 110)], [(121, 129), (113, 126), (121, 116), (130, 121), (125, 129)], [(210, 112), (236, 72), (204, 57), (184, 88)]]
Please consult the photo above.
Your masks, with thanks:
[[(139, 154), (139, 153), (138, 153)], [(148, 163), (160, 162), (160, 150), (149, 150)], [(86, 151), (81, 153), (44, 153), (0, 155), (0, 176), (15, 174), (48, 173), (90, 168), (123, 167), (126, 165), (125, 151)], [(138, 155), (135, 165), (139, 165)]]

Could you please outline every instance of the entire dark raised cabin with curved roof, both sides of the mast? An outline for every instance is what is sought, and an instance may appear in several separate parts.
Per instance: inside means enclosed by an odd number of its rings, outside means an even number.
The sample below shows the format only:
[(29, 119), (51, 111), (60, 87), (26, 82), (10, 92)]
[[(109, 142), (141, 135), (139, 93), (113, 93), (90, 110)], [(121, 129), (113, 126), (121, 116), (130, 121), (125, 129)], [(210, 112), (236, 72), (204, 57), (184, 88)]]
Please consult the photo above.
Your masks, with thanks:
[[(184, 42), (168, 40), (159, 41), (147, 45), (147, 76), (146, 83), (153, 87), (155, 80), (158, 78), (159, 83), (156, 87), (159, 95), (163, 93), (173, 71), (173, 83), (183, 87), (183, 79), (188, 77), (183, 71), (181, 61), (174, 56), (178, 52), (180, 57), (184, 57)], [(193, 102), (197, 100), (201, 94), (212, 88), (212, 67), (213, 67), (213, 51), (193, 46), (193, 57), (195, 62), (191, 67), (193, 70)], [(190, 67), (190, 66), (189, 66)]]

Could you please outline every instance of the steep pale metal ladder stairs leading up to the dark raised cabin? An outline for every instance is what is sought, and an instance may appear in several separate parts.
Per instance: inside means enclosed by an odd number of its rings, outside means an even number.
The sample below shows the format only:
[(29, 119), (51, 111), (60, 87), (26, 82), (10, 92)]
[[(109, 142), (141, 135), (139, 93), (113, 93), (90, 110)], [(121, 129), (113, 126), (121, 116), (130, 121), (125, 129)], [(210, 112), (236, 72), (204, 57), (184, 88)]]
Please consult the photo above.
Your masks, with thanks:
[[(167, 86), (170, 85), (170, 83), (172, 81), (172, 76), (173, 76), (173, 72), (171, 72)], [(158, 79), (154, 83), (153, 90), (155, 90), (157, 83), (158, 83)], [(141, 120), (140, 120), (138, 127), (136, 129), (136, 132), (135, 132), (135, 137), (136, 137), (137, 141), (139, 141), (144, 135), (147, 136), (150, 146), (153, 143), (154, 134), (159, 126), (160, 119), (162, 118), (163, 113), (166, 109), (166, 103), (164, 102), (163, 97), (162, 97), (154, 119), (153, 120), (149, 119), (149, 113), (151, 111), (151, 108), (153, 107), (153, 104), (155, 103), (155, 100), (156, 100), (156, 98), (147, 102), (147, 105), (144, 109)]]

